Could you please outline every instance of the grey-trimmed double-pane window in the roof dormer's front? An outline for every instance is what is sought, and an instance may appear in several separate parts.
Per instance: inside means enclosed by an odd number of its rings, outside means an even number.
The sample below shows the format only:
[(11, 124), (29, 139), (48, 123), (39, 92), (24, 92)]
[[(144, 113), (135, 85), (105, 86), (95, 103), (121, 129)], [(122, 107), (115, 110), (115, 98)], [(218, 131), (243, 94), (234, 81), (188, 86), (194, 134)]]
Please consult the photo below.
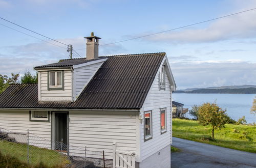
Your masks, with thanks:
[(63, 90), (63, 71), (48, 71), (48, 90)]

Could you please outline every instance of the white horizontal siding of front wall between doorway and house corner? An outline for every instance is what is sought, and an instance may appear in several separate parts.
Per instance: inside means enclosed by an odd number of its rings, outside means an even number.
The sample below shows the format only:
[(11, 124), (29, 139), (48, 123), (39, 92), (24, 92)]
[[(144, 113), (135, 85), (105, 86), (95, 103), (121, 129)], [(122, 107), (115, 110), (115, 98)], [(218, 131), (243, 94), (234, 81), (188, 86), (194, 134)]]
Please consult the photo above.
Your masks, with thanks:
[[(119, 112), (120, 113), (120, 112)], [(69, 143), (89, 151), (105, 152), (105, 158), (113, 159), (113, 143), (118, 149), (136, 151), (136, 117), (131, 114), (87, 114), (81, 111), (69, 113)], [(71, 150), (71, 155), (82, 151)], [(96, 157), (96, 156), (95, 156)], [(100, 156), (99, 156), (100, 157)], [(101, 156), (102, 157), (102, 156)]]

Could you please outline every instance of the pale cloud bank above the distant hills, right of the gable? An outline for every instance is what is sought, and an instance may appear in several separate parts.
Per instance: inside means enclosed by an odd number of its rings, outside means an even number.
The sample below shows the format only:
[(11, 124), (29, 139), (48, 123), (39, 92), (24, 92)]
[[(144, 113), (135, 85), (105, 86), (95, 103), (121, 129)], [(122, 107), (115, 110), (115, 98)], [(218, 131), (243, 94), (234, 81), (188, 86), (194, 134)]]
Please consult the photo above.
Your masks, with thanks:
[(241, 60), (170, 63), (178, 89), (256, 83), (256, 63)]

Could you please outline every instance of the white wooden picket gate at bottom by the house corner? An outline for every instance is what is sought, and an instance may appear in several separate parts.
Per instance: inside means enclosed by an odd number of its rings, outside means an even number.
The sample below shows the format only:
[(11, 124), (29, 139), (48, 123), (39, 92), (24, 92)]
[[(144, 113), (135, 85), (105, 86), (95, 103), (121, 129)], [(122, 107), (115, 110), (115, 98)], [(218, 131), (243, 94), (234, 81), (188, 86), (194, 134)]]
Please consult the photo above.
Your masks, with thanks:
[(116, 144), (113, 144), (113, 167), (135, 168), (135, 152), (117, 150)]

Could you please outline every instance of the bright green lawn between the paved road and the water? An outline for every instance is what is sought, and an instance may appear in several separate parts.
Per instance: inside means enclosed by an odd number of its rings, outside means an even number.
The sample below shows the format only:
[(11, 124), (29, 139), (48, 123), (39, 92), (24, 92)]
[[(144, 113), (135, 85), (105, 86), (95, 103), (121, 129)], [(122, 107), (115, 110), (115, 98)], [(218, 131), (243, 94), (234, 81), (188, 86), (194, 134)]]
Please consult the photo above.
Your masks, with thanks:
[(225, 128), (215, 130), (215, 139), (210, 135), (210, 126), (202, 126), (197, 121), (173, 119), (174, 137), (256, 153), (255, 126), (226, 124)]

